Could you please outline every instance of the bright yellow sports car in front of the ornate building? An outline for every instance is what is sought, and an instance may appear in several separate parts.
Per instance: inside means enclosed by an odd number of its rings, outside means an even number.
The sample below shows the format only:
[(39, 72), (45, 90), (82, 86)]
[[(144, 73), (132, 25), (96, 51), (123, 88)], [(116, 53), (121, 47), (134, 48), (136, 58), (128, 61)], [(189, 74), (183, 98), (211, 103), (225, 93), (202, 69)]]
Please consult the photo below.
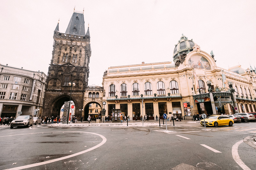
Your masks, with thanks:
[(215, 127), (218, 127), (219, 125), (233, 126), (233, 123), (234, 123), (233, 119), (225, 115), (211, 115), (206, 119), (202, 119), (200, 121), (202, 126), (204, 126), (204, 121), (205, 121), (205, 126), (215, 126)]

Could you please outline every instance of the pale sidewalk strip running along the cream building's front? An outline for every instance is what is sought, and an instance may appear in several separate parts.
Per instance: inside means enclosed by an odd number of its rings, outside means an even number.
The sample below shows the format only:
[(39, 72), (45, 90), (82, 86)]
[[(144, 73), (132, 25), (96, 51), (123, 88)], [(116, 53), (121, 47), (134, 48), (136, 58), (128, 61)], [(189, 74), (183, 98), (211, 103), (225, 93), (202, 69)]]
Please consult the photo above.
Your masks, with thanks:
[[(176, 122), (174, 121), (174, 125), (177, 124), (185, 124), (185, 123), (198, 123), (199, 121), (193, 121), (193, 120), (182, 120), (181, 122)], [(160, 120), (160, 125), (163, 126), (163, 120)], [(167, 125), (172, 125), (173, 126), (173, 122), (167, 121)], [(88, 123), (88, 121), (86, 122), (76, 122), (76, 123), (54, 123), (54, 124), (49, 124), (48, 126), (127, 126), (127, 122), (123, 122), (123, 123), (114, 123), (114, 122), (100, 122), (100, 123), (96, 123), (95, 121), (90, 121), (90, 123)], [(128, 126), (142, 126), (142, 121), (128, 121)], [(143, 126), (159, 126), (159, 121), (143, 121)], [(164, 120), (164, 126), (165, 126), (165, 120)]]

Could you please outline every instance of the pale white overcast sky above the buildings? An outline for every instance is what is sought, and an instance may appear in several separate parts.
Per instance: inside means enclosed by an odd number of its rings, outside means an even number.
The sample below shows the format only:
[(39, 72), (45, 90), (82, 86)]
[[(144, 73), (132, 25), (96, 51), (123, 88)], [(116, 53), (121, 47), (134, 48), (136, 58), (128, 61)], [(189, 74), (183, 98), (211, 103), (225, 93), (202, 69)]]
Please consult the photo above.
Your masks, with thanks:
[(183, 33), (211, 50), (219, 67), (256, 66), (256, 1), (1, 0), (0, 63), (48, 72), (53, 31), (64, 33), (74, 11), (90, 23), (89, 85), (111, 66), (173, 61)]

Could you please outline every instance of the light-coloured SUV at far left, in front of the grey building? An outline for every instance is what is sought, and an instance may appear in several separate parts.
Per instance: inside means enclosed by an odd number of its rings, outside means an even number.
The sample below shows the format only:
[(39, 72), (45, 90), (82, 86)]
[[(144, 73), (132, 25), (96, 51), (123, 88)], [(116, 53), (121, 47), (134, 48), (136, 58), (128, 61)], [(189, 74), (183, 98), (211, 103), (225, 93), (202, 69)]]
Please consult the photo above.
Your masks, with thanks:
[(33, 116), (32, 115), (20, 115), (11, 122), (11, 129), (14, 126), (33, 126)]

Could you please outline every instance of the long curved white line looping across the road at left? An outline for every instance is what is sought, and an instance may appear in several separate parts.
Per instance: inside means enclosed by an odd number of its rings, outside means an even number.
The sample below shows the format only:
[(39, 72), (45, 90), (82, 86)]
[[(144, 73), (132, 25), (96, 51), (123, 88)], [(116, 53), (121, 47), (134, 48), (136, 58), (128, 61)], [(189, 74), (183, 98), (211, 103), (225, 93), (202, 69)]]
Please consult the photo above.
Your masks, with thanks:
[[(80, 132), (80, 131), (66, 131), (66, 132)], [(38, 132), (38, 133), (42, 133), (42, 132)], [(61, 133), (61, 132), (44, 132), (44, 133)], [(5, 170), (20, 170), (20, 169), (31, 168), (31, 167), (35, 167), (35, 166), (49, 164), (49, 163), (60, 161), (60, 160), (63, 160), (63, 159), (72, 158), (74, 156), (81, 155), (83, 153), (92, 151), (93, 149), (96, 149), (96, 148), (100, 147), (101, 145), (105, 144), (106, 141), (107, 141), (106, 137), (104, 137), (104, 136), (102, 136), (100, 134), (97, 134), (97, 133), (91, 133), (91, 132), (82, 132), (82, 133), (90, 133), (90, 134), (98, 135), (98, 136), (100, 136), (102, 138), (102, 142), (100, 142), (100, 144), (97, 144), (96, 146), (93, 146), (92, 148), (86, 149), (86, 150), (81, 151), (81, 152), (74, 153), (72, 155), (68, 155), (68, 156), (64, 156), (64, 157), (61, 157), (61, 158), (52, 159), (52, 160), (48, 160), (48, 161), (44, 161), (44, 162), (39, 162), (39, 163), (35, 163), (35, 164), (30, 164), (30, 165), (25, 165), (25, 166), (19, 166), (19, 167), (15, 167), (15, 168), (5, 169)], [(28, 134), (37, 134), (37, 133), (25, 133), (25, 134), (17, 134), (17, 135), (28, 135)], [(1, 137), (9, 137), (9, 136), (17, 136), (17, 135), (8, 135), (8, 136), (1, 136)]]

